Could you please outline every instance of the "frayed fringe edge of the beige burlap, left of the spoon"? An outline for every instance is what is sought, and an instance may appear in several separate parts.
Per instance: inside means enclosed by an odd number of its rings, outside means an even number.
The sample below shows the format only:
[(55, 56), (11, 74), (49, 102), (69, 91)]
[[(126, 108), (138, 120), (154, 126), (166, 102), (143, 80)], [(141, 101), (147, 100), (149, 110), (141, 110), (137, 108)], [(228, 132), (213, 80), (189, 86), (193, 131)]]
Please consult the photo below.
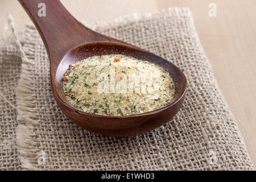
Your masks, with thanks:
[[(22, 66), (20, 79), (16, 88), (16, 109), (18, 111), (17, 121), (24, 121), (26, 125), (18, 125), (16, 128), (16, 144), (18, 146), (19, 159), (22, 163), (22, 167), (31, 170), (37, 170), (31, 163), (35, 160), (37, 154), (33, 152), (33, 148), (38, 144), (35, 139), (35, 125), (39, 120), (35, 109), (34, 97), (31, 96), (33, 83), (31, 78), (32, 69), (30, 68), (31, 61), (28, 59), (27, 54), (33, 55), (34, 52), (30, 51), (26, 46), (22, 46), (20, 43), (19, 35), (15, 31), (14, 19), (10, 14), (7, 14), (7, 20), (11, 30), (13, 31), (14, 39), (18, 48), (20, 49), (22, 57)], [(24, 42), (31, 44), (31, 39), (26, 39)]]

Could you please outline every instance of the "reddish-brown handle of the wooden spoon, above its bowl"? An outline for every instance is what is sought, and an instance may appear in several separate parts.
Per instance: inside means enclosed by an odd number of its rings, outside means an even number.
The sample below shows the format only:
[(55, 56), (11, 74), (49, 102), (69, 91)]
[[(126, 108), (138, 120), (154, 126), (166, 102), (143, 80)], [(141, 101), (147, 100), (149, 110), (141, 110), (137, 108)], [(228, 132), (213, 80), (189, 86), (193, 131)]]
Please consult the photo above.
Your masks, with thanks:
[(118, 42), (77, 21), (59, 0), (18, 0), (39, 31), (50, 60), (92, 42)]

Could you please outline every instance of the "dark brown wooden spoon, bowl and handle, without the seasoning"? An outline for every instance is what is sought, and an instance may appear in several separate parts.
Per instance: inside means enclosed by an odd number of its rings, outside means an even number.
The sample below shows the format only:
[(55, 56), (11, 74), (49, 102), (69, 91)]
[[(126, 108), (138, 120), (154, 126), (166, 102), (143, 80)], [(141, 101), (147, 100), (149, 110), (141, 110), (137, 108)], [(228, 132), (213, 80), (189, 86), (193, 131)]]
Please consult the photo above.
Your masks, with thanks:
[[(141, 48), (98, 34), (78, 22), (59, 0), (19, 0), (41, 35), (50, 60), (51, 88), (63, 113), (76, 125), (101, 135), (129, 137), (164, 125), (184, 101), (187, 80), (174, 64)], [(39, 16), (39, 3), (46, 5), (46, 16)], [(122, 54), (150, 61), (168, 71), (175, 82), (172, 102), (148, 113), (106, 116), (85, 113), (71, 106), (63, 92), (62, 78), (70, 64), (94, 55)]]

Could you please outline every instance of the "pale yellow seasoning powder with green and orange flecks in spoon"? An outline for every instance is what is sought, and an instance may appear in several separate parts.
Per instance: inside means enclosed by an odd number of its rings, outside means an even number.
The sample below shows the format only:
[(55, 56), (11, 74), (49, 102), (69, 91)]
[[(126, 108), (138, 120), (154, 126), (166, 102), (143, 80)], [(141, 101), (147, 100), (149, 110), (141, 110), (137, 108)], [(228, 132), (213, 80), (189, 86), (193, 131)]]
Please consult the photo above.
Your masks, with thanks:
[(170, 104), (175, 91), (162, 67), (124, 55), (93, 56), (69, 65), (63, 88), (73, 107), (100, 115), (160, 109)]

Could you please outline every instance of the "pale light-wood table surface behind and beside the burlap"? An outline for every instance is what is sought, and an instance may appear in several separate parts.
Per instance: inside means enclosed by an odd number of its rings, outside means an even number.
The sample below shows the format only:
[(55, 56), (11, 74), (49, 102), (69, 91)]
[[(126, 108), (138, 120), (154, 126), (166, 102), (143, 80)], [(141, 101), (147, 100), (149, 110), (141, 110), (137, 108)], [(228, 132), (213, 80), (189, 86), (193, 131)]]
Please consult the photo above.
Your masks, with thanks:
[[(61, 0), (69, 12), (88, 23), (102, 23), (137, 12), (155, 13), (171, 6), (189, 7), (201, 44), (212, 64), (247, 150), (256, 167), (256, 1), (255, 0)], [(216, 3), (217, 16), (208, 7)], [(13, 15), (16, 30), (30, 22), (16, 0), (1, 0), (0, 31)]]

